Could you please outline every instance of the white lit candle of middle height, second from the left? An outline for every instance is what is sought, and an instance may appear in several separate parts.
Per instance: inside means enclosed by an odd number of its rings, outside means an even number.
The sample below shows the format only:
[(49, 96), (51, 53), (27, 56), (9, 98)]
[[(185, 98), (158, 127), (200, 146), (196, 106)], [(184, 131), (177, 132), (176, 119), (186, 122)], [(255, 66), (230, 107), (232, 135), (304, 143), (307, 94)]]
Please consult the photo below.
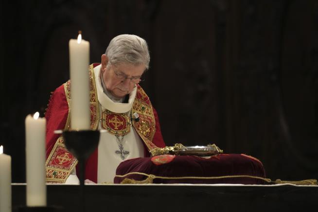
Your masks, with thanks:
[(45, 132), (46, 120), (39, 113), (25, 118), (27, 206), (46, 206)]

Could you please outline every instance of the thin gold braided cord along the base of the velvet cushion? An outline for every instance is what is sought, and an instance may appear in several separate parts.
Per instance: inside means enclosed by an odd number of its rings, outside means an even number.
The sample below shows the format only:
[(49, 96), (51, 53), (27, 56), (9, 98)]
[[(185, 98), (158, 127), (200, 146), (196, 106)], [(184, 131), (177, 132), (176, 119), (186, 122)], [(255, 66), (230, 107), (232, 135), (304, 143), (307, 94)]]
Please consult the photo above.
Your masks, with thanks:
[(256, 177), (256, 176), (250, 176), (250, 175), (228, 175), (228, 176), (218, 176), (218, 177), (161, 177), (161, 176), (155, 176), (155, 175), (148, 175), (141, 172), (130, 172), (125, 175), (116, 175), (115, 177), (127, 177), (128, 175), (143, 175), (151, 179), (159, 178), (159, 179), (222, 179), (222, 178), (235, 178), (235, 177), (249, 177), (249, 178), (255, 178), (255, 179), (262, 179), (266, 182), (272, 182), (271, 179), (264, 178), (264, 177)]

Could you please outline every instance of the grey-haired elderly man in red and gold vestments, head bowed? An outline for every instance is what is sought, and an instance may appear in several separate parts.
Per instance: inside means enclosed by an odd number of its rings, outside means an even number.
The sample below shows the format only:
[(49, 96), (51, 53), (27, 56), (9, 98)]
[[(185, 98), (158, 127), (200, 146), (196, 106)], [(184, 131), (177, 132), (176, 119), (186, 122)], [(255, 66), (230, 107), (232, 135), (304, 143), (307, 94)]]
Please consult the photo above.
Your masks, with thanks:
[[(118, 35), (110, 41), (101, 64), (90, 65), (90, 127), (106, 131), (87, 161), (86, 179), (113, 182), (119, 163), (150, 156), (150, 150), (165, 146), (157, 112), (138, 84), (149, 61), (144, 39)], [(70, 81), (57, 88), (46, 111), (47, 182), (78, 182), (77, 159), (66, 149), (63, 137), (54, 134), (70, 127), (70, 88)]]

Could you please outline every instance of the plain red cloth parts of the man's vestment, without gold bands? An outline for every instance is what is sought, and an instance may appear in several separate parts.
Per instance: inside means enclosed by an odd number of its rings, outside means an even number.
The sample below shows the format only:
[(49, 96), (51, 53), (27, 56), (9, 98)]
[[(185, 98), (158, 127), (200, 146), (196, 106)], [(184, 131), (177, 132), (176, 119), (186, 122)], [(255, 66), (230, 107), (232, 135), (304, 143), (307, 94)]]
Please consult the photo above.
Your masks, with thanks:
[[(100, 63), (94, 63), (93, 66), (96, 67), (99, 64)], [(153, 139), (153, 143), (157, 145), (158, 147), (164, 147), (165, 143), (161, 135), (159, 118), (154, 107), (153, 107), (153, 111), (154, 111), (155, 120), (156, 120), (156, 133)], [(46, 158), (49, 157), (56, 140), (60, 136), (60, 134), (55, 134), (54, 130), (59, 130), (59, 129), (63, 130), (65, 128), (68, 112), (69, 112), (69, 107), (68, 107), (67, 99), (65, 96), (64, 86), (61, 85), (60, 87), (56, 88), (56, 90), (53, 92), (49, 101), (48, 109), (45, 113), (45, 117), (47, 120)], [(145, 157), (150, 156), (149, 150), (147, 149), (145, 144), (144, 144), (144, 155)], [(85, 172), (86, 179), (90, 179), (93, 182), (97, 182), (97, 168), (98, 168), (98, 150), (96, 149), (94, 153), (87, 160), (86, 172)]]

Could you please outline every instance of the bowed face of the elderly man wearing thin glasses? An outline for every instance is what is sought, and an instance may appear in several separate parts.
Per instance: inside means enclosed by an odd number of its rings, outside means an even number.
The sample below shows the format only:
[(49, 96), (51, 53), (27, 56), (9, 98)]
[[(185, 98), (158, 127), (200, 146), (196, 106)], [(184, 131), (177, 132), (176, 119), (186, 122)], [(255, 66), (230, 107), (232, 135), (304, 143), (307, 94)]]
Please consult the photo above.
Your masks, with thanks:
[[(107, 63), (108, 58), (105, 54), (103, 54), (101, 67), (103, 74), (102, 77), (108, 92), (117, 98), (123, 98), (125, 95), (129, 94), (136, 86), (136, 83), (130, 80), (130, 78), (141, 77), (143, 71), (145, 70), (144, 65), (135, 66), (133, 64), (127, 63), (110, 65), (106, 68)], [(123, 76), (124, 79), (121, 79)]]

